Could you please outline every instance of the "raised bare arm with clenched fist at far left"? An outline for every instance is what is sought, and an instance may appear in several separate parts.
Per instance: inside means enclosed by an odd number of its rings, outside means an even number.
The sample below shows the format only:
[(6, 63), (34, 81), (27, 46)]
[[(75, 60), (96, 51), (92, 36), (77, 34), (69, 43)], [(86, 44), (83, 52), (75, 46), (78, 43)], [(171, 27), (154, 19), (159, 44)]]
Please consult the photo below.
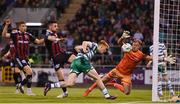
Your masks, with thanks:
[(8, 33), (8, 26), (11, 24), (10, 19), (5, 20), (5, 26), (2, 31), (2, 37), (10, 38), (11, 34)]

